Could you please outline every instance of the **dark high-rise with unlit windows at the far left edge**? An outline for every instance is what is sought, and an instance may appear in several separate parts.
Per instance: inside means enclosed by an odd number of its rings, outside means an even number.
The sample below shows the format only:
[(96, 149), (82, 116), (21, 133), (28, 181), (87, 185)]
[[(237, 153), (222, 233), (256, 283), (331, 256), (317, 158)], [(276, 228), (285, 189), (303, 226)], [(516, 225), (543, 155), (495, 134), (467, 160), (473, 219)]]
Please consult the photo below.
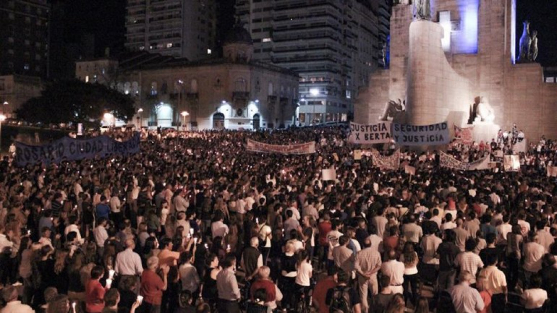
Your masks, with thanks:
[(0, 1), (0, 74), (46, 77), (47, 0)]

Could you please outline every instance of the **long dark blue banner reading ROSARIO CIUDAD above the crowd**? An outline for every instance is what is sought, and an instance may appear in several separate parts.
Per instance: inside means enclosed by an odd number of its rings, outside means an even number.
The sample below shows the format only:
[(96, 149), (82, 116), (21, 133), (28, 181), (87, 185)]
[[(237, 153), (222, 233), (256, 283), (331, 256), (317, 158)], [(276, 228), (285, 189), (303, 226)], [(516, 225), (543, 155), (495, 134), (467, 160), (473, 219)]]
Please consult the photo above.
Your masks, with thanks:
[(139, 152), (139, 133), (124, 142), (108, 136), (89, 139), (64, 137), (46, 145), (26, 145), (16, 142), (16, 165), (26, 166), (36, 163), (60, 163), (85, 158), (106, 157), (109, 155), (127, 156)]

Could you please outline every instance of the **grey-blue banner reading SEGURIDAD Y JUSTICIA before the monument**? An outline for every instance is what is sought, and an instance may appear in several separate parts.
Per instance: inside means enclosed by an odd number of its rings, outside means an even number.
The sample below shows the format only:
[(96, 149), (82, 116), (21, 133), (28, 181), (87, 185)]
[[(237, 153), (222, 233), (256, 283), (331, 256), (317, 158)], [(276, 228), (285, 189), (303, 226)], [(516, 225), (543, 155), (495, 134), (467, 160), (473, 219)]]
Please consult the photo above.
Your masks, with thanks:
[(393, 123), (393, 138), (400, 146), (436, 146), (449, 143), (447, 122), (432, 125), (405, 125)]

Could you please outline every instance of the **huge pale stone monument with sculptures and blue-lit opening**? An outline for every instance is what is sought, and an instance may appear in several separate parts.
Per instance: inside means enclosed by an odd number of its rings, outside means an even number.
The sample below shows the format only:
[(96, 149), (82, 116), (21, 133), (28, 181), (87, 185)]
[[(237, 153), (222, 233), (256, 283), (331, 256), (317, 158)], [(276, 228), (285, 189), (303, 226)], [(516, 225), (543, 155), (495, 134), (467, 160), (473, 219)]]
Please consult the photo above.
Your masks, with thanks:
[[(398, 3), (390, 19), (389, 68), (374, 72), (369, 86), (360, 88), (355, 122), (377, 122), (384, 117), (385, 103), (401, 98), (404, 123), (473, 123), (486, 128), (484, 141), (514, 122), (527, 140), (557, 133), (557, 85), (545, 83), (540, 64), (532, 62), (537, 36), (530, 35), (529, 23), (522, 24), (517, 42), (516, 0)], [(467, 119), (476, 96), (483, 101), (478, 98), (473, 118)]]

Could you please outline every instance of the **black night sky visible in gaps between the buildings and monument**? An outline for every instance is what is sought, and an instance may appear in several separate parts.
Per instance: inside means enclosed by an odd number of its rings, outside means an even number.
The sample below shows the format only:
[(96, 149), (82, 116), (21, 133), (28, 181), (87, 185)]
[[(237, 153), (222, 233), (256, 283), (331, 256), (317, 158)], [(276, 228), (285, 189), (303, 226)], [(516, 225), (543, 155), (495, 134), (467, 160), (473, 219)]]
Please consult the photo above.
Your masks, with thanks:
[[(66, 32), (64, 41), (79, 42), (84, 34), (95, 38), (94, 56), (104, 54), (110, 47), (111, 54), (124, 50), (125, 0), (54, 0), (65, 3)], [(221, 8), (218, 13), (219, 41), (234, 23), (230, 12), (234, 0), (216, 0)], [(538, 62), (543, 66), (557, 66), (557, 0), (517, 0), (517, 44), (522, 34), (522, 21), (530, 21), (530, 30), (538, 31)]]

